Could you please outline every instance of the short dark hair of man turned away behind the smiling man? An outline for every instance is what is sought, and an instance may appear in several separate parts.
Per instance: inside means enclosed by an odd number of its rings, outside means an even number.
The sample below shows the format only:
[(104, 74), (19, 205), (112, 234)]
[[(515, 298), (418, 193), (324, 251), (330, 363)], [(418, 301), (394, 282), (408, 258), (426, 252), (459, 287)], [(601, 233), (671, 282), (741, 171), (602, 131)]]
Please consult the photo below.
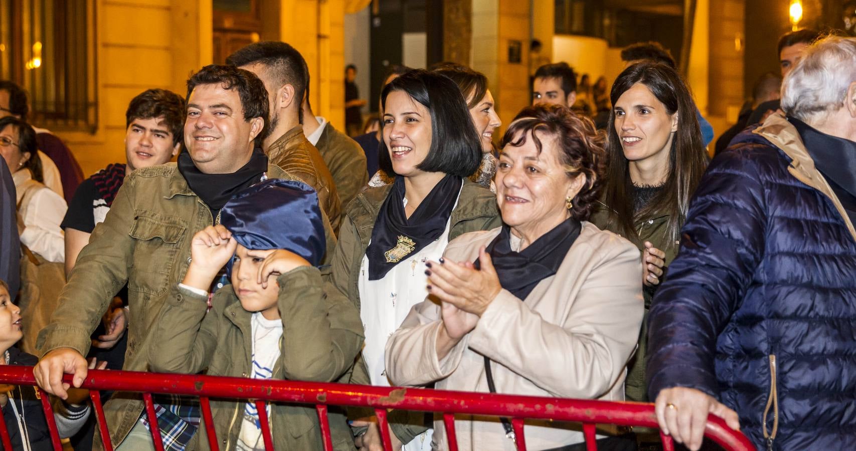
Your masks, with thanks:
[(226, 64), (236, 68), (248, 64), (261, 64), (279, 85), (294, 86), (297, 117), (300, 123), (303, 123), (302, 105), (309, 80), (306, 60), (297, 49), (281, 41), (256, 42), (229, 55), (226, 58)]

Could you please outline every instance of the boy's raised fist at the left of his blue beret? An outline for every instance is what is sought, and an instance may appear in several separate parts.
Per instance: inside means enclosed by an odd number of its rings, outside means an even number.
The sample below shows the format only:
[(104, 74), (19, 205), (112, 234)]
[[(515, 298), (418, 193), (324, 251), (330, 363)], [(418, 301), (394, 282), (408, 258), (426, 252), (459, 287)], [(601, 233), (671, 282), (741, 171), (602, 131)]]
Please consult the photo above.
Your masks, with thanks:
[(232, 233), (220, 224), (199, 230), (190, 241), (192, 260), (181, 283), (208, 291), (214, 277), (235, 255), (237, 247)]

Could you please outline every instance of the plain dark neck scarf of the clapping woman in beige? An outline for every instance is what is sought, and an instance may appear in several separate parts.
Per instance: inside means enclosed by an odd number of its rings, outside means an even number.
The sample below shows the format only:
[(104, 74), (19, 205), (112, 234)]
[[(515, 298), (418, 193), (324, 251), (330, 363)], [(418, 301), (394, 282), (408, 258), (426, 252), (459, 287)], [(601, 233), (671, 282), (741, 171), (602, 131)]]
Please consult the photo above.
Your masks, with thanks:
[[(511, 228), (502, 225), (502, 232), (490, 241), (485, 252), (490, 254), (502, 288), (525, 300), (538, 282), (556, 274), (581, 230), (580, 221), (569, 217), (526, 249), (514, 252), (511, 250)], [(481, 268), (479, 258), (473, 264)]]

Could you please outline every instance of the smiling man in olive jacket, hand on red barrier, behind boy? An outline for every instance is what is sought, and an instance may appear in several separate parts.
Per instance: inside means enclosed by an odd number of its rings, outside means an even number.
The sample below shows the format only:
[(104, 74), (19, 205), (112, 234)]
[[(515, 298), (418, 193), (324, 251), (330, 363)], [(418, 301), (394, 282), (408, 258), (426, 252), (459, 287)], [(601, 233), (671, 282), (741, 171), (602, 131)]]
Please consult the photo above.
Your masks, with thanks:
[[(241, 98), (250, 101), (244, 104)], [(128, 175), (104, 223), (92, 232), (51, 324), (39, 333), (43, 356), (33, 372), (42, 389), (65, 399), (63, 372), (74, 374), (74, 386), (80, 386), (86, 377), (83, 356), (92, 330), (126, 282), (129, 331), (122, 369), (149, 369), (149, 353), (162, 345), (150, 331), (170, 288), (187, 271), (193, 234), (217, 223), (217, 214), (231, 195), (265, 175), (296, 180), (268, 164), (257, 148), (267, 111), (265, 86), (248, 71), (211, 65), (187, 81), (187, 152), (177, 165)], [(330, 249), (336, 239), (326, 219), (324, 226)], [(146, 432), (139, 427), (142, 412), (140, 395), (116, 394), (107, 402), (104, 413), (114, 446), (122, 449), (130, 435), (134, 440), (128, 440), (125, 449), (152, 447), (151, 438), (146, 443), (145, 435), (132, 433)], [(100, 441), (94, 442), (100, 448)]]

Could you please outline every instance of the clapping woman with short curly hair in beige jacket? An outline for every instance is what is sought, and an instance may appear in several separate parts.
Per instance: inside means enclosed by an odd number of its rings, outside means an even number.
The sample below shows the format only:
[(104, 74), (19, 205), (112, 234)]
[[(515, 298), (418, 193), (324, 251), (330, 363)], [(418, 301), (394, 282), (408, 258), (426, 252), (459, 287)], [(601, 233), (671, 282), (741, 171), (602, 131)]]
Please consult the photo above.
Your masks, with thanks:
[[(496, 172), (503, 225), (464, 234), (429, 262), (431, 295), (387, 341), (393, 383), (623, 401), (642, 319), (642, 265), (633, 244), (586, 222), (601, 182), (601, 142), (591, 121), (565, 107), (520, 112)], [(514, 449), (507, 421), (458, 416), (455, 425), (461, 449)], [(530, 422), (525, 431), (530, 449), (583, 441), (566, 424)], [(443, 427), (433, 447), (449, 448)]]

